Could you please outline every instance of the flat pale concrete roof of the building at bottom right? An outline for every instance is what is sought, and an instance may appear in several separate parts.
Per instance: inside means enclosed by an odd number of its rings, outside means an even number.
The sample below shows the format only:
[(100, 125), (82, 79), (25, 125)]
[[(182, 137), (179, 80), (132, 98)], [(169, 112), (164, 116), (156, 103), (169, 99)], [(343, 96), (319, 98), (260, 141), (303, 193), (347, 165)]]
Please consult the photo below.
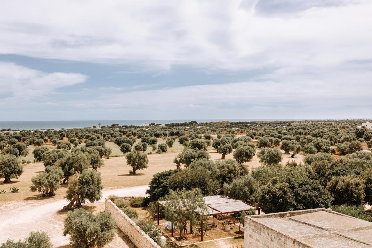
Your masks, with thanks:
[(372, 247), (372, 223), (329, 209), (248, 216), (310, 247)]

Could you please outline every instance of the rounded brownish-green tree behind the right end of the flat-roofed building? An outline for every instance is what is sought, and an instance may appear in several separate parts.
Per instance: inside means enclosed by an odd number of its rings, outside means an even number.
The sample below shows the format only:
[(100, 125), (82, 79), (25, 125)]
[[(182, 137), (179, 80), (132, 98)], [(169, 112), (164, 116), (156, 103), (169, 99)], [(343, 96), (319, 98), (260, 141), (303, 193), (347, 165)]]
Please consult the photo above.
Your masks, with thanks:
[(334, 198), (334, 205), (360, 205), (364, 203), (365, 181), (360, 177), (347, 175), (333, 177), (327, 184), (326, 190)]

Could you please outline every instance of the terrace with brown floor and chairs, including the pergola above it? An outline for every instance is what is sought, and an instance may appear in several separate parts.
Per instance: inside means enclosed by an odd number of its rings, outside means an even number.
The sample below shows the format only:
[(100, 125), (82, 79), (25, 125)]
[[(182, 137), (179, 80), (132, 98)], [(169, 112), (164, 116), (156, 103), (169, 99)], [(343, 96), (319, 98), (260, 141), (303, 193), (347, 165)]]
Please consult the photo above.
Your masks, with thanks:
[[(198, 223), (199, 225), (190, 225), (187, 221), (185, 234), (183, 239), (178, 240), (179, 230), (171, 225), (171, 222), (159, 223), (160, 214), (159, 206), (165, 206), (167, 201), (158, 201), (157, 224), (164, 233), (166, 238), (171, 239), (179, 246), (198, 244), (201, 242), (213, 241), (216, 239), (234, 238), (244, 235), (244, 228), (239, 230), (239, 221), (232, 217), (231, 213), (238, 213), (255, 209), (256, 213), (260, 214), (260, 208), (252, 204), (230, 197), (228, 195), (212, 195), (204, 197), (205, 205), (208, 211), (202, 213), (207, 217), (207, 223)], [(213, 216), (217, 216), (218, 224), (214, 225)], [(203, 226), (203, 231), (201, 229)]]

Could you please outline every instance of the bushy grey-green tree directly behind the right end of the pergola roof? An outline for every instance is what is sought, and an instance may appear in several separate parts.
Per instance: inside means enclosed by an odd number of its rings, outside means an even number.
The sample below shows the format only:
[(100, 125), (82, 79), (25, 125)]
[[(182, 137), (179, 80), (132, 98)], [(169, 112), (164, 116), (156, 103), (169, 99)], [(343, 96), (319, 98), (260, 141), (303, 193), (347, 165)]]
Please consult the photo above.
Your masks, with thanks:
[(230, 184), (224, 183), (224, 194), (230, 195), (248, 203), (256, 203), (260, 192), (260, 185), (251, 175), (235, 178)]

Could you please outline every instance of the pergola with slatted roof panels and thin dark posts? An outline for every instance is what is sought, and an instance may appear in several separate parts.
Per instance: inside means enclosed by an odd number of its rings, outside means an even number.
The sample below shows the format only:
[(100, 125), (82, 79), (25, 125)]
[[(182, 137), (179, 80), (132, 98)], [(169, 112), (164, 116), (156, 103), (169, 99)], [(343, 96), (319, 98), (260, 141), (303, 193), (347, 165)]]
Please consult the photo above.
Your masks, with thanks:
[[(168, 201), (157, 201), (157, 219), (159, 225), (159, 205), (166, 206)], [(203, 215), (219, 215), (219, 214), (229, 214), (238, 213), (241, 211), (248, 211), (250, 209), (258, 210), (260, 214), (260, 208), (245, 201), (238, 200), (237, 198), (231, 197), (229, 195), (211, 195), (204, 197), (204, 204), (207, 207), (207, 212), (202, 213)], [(200, 214), (200, 212), (199, 212)], [(203, 226), (203, 221), (200, 226)], [(191, 226), (190, 226), (191, 228)], [(201, 241), (203, 241), (203, 232), (201, 234)], [(171, 223), (171, 236), (173, 237), (173, 223)]]

